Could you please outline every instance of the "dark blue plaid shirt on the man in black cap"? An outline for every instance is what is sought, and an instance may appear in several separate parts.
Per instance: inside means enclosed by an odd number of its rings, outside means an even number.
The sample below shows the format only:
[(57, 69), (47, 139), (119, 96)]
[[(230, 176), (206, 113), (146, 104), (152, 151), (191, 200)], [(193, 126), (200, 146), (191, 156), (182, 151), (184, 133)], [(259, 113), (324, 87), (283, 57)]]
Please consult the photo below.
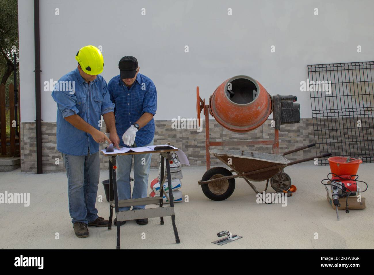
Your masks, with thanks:
[[(153, 81), (138, 73), (131, 88), (123, 83), (120, 76), (113, 77), (108, 83), (110, 100), (116, 105), (116, 129), (120, 138), (120, 145), (125, 146), (122, 136), (128, 128), (144, 113), (156, 114), (157, 91)], [(144, 127), (140, 128), (135, 136), (137, 147), (149, 144), (154, 137), (153, 118)]]

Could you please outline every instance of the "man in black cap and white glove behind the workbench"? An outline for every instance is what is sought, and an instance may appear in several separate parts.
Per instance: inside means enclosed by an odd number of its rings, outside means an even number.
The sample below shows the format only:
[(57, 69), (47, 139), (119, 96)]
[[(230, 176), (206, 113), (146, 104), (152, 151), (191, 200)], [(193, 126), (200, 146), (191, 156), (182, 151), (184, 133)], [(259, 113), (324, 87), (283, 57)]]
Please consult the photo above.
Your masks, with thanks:
[[(120, 74), (108, 83), (110, 100), (115, 104), (116, 129), (120, 147), (142, 147), (153, 145), (154, 120), (157, 109), (157, 91), (153, 81), (139, 73), (140, 67), (134, 56), (124, 56), (118, 64)], [(117, 156), (118, 199), (147, 197), (148, 173), (151, 154), (134, 155), (134, 188), (131, 196), (130, 172), (132, 155)], [(135, 205), (132, 210), (144, 209), (145, 205)], [(128, 211), (130, 207), (119, 208)], [(120, 221), (125, 224), (126, 221)], [(148, 219), (137, 220), (147, 224)], [(117, 224), (116, 219), (114, 224)]]

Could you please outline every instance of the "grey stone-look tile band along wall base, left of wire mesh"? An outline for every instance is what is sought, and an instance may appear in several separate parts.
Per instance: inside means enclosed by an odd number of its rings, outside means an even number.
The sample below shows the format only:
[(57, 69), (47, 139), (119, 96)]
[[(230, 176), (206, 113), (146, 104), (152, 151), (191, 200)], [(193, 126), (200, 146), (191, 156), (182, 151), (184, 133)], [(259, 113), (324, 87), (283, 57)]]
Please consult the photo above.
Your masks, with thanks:
[[(231, 132), (215, 120), (209, 120), (211, 140), (222, 141), (240, 141), (240, 140), (269, 140), (274, 138), (274, 129), (270, 127), (269, 119), (266, 123), (247, 133)], [(171, 120), (155, 120), (156, 132), (154, 134), (154, 144), (165, 144), (170, 142), (173, 146), (181, 148), (190, 161), (191, 165), (205, 165), (205, 121), (203, 121), (203, 130), (198, 132), (196, 129), (173, 129)], [(102, 125), (102, 131), (105, 131), (105, 123)], [(295, 149), (303, 145), (315, 142), (313, 132), (313, 119), (303, 118), (300, 123), (282, 125), (279, 133), (280, 152)], [(42, 122), (42, 154), (43, 171), (65, 172), (64, 161), (61, 153), (56, 149), (56, 122)], [(104, 149), (105, 144), (100, 146)], [(254, 152), (272, 153), (272, 146), (217, 146), (217, 149), (228, 150), (250, 150)], [(307, 158), (315, 155), (315, 148), (306, 149), (292, 155), (288, 155), (290, 160)], [(59, 164), (56, 165), (56, 158), (59, 158)], [(158, 154), (152, 155), (151, 167), (157, 168)], [(214, 156), (211, 158), (211, 165), (222, 164)], [(100, 169), (108, 169), (109, 160), (100, 155)], [(21, 123), (21, 171), (36, 172), (36, 126), (34, 122)]]

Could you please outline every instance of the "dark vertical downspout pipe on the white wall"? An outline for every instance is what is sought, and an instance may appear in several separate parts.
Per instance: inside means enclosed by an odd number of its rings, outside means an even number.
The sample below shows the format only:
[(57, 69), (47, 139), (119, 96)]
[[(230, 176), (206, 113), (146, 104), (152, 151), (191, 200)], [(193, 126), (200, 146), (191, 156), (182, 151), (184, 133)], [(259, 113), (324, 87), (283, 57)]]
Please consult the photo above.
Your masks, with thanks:
[(36, 164), (37, 174), (43, 174), (42, 159), (42, 103), (40, 100), (40, 31), (39, 0), (34, 0), (34, 42), (35, 42), (35, 111), (36, 111)]

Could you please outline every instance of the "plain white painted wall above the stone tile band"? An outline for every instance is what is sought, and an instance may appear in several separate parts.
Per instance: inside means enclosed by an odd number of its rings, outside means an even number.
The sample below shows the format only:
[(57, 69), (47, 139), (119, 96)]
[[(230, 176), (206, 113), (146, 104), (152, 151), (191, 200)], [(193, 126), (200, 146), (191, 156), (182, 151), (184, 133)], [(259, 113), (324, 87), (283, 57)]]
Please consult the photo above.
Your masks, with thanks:
[[(19, 0), (18, 9), (21, 121), (30, 122), (33, 1)], [(257, 79), (272, 95), (296, 95), (301, 116), (312, 117), (309, 92), (300, 92), (307, 65), (374, 60), (373, 10), (372, 0), (40, 0), (42, 87), (76, 68), (74, 56), (82, 46), (101, 45), (107, 82), (119, 73), (122, 56), (137, 57), (140, 72), (157, 88), (155, 119), (196, 117), (196, 86), (208, 100), (218, 85), (239, 74)], [(42, 119), (56, 121), (50, 92), (42, 91)]]

